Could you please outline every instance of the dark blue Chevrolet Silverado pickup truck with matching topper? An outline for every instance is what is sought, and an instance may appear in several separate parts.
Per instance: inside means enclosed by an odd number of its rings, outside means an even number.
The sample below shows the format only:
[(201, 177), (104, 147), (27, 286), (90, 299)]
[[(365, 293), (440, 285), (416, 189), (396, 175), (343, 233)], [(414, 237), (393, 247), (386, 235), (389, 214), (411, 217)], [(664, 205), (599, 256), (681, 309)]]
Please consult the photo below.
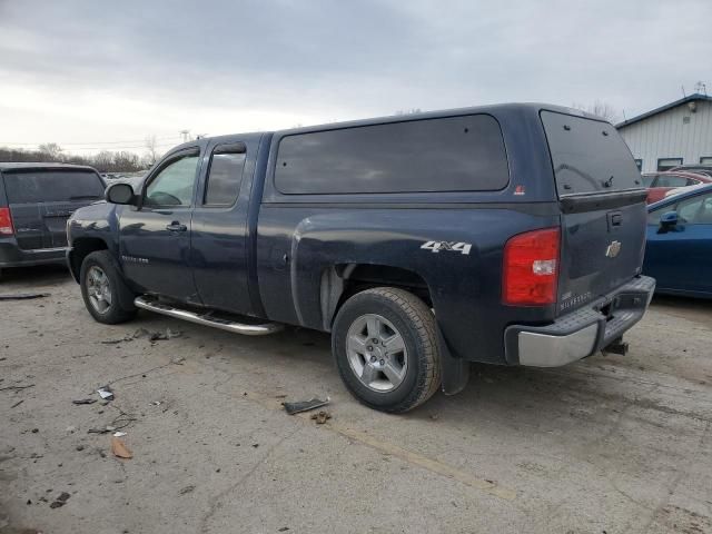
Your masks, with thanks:
[(240, 334), (332, 333), (363, 403), (405, 412), (469, 362), (622, 352), (654, 280), (615, 128), (501, 105), (200, 139), (68, 224), (101, 323), (137, 308)]

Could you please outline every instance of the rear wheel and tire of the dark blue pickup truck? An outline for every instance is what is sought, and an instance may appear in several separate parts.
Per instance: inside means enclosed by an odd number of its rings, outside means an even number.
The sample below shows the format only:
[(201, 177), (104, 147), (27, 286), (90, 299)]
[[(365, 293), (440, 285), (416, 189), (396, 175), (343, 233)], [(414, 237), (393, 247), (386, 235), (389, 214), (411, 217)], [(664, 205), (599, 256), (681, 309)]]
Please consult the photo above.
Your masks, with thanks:
[(407, 412), (441, 385), (435, 316), (403, 289), (367, 289), (344, 303), (332, 352), (348, 390), (374, 409)]

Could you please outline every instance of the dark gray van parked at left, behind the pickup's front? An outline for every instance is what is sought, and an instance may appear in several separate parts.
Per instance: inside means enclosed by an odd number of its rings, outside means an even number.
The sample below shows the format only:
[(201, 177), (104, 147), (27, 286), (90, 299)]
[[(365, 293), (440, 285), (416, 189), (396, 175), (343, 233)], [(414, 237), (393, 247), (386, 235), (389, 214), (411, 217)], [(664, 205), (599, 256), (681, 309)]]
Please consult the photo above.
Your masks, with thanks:
[(0, 270), (63, 264), (67, 219), (103, 189), (91, 167), (0, 162)]

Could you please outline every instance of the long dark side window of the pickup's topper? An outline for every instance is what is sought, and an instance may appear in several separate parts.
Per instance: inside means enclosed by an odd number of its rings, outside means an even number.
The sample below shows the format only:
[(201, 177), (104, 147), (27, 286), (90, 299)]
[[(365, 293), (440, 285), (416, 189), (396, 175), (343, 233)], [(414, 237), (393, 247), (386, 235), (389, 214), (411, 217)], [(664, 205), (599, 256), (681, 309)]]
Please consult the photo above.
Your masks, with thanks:
[(289, 135), (275, 168), (286, 195), (490, 191), (508, 182), (500, 123), (484, 113)]

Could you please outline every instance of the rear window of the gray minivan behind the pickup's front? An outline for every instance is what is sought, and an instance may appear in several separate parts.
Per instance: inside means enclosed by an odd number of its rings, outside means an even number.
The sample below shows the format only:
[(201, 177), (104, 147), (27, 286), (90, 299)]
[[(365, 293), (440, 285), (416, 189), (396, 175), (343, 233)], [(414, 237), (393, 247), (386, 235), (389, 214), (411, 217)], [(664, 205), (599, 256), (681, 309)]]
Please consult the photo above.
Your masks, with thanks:
[(8, 204), (71, 202), (103, 198), (103, 181), (91, 170), (3, 172)]

